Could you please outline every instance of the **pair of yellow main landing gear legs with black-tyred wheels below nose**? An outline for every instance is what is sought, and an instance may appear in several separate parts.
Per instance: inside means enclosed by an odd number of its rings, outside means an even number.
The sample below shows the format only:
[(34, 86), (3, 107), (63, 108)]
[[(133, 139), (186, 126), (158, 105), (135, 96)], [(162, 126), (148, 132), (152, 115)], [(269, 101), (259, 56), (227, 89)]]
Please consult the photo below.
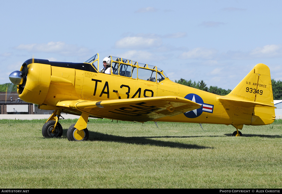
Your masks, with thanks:
[[(42, 127), (43, 137), (61, 137), (63, 128), (58, 122), (61, 115), (61, 110), (55, 110), (48, 118)], [(75, 124), (72, 124), (67, 131), (69, 141), (86, 141), (89, 137), (88, 129), (86, 128), (89, 115), (82, 113)], [(76, 127), (75, 127), (76, 126)]]

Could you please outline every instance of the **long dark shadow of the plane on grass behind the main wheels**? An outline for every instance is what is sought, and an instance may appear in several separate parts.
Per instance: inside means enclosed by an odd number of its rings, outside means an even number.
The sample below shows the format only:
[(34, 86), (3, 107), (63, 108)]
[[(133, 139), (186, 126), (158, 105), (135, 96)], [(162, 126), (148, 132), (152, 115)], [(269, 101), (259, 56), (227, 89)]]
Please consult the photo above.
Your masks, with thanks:
[[(67, 129), (63, 130), (62, 137), (66, 137)], [(181, 149), (210, 149), (212, 147), (208, 146), (199, 146), (195, 144), (184, 144), (172, 141), (160, 141), (150, 138), (187, 138), (195, 136), (151, 136), (151, 137), (122, 137), (118, 135), (110, 135), (99, 132), (89, 131), (88, 141), (114, 141), (120, 143), (129, 143), (129, 144), (138, 144), (138, 145), (153, 145), (160, 147), (171, 147), (171, 148), (181, 148)], [(196, 136), (197, 137), (197, 136)]]

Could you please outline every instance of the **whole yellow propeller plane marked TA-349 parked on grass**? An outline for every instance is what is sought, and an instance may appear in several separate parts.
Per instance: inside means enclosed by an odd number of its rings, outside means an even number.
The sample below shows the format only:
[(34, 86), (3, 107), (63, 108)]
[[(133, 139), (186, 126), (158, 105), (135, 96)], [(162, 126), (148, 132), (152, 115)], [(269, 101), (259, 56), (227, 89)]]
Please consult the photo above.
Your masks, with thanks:
[(174, 83), (156, 66), (112, 56), (103, 59), (101, 70), (99, 64), (98, 53), (84, 63), (28, 59), (10, 74), (22, 100), (55, 110), (43, 125), (44, 137), (62, 135), (61, 112), (80, 115), (67, 131), (70, 141), (88, 139), (89, 117), (225, 124), (236, 128), (233, 136), (242, 135), (238, 129), (243, 125), (266, 125), (275, 119), (265, 64), (257, 64), (226, 96)]

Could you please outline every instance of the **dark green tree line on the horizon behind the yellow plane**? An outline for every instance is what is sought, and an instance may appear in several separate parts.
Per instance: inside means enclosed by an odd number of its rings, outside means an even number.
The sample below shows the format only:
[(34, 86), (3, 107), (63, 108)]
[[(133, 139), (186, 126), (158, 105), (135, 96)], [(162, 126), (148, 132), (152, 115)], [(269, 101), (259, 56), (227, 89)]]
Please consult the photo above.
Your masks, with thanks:
[[(208, 88), (203, 80), (196, 82), (196, 81), (191, 81), (191, 79), (188, 81), (186, 79), (180, 78), (179, 80), (175, 80), (175, 83), (186, 85), (199, 90), (204, 90), (206, 92), (210, 92), (221, 96), (225, 96), (231, 92), (230, 89), (225, 90), (217, 86), (210, 86)], [(271, 83), (272, 83), (272, 92), (273, 92), (274, 100), (282, 100), (282, 81), (280, 80), (276, 81), (274, 79), (271, 79)], [(0, 84), (0, 92), (16, 92), (17, 91), (16, 88), (17, 86), (12, 83)]]

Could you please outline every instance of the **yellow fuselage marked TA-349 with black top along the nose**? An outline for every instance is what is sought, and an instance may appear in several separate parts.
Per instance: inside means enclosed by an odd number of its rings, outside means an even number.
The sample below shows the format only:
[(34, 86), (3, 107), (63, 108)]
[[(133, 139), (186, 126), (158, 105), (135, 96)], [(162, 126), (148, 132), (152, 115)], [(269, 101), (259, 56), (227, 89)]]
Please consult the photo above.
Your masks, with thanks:
[[(202, 107), (173, 117), (159, 118), (157, 121), (232, 124), (233, 119), (230, 116), (234, 111), (240, 115), (241, 111), (237, 107), (222, 105), (218, 95), (175, 83), (167, 77), (159, 82), (153, 82), (99, 73), (95, 69), (91, 70), (87, 63), (61, 63), (47, 60), (28, 63), (27, 61), (27, 80), (24, 89), (18, 90), (19, 97), (26, 102), (39, 104), (41, 109), (56, 109), (58, 108), (56, 104), (64, 100), (101, 101), (179, 96), (192, 100)], [(251, 113), (249, 115), (251, 117)], [(90, 116), (99, 117), (99, 115)], [(244, 124), (251, 123), (250, 118), (240, 119), (245, 120)]]

